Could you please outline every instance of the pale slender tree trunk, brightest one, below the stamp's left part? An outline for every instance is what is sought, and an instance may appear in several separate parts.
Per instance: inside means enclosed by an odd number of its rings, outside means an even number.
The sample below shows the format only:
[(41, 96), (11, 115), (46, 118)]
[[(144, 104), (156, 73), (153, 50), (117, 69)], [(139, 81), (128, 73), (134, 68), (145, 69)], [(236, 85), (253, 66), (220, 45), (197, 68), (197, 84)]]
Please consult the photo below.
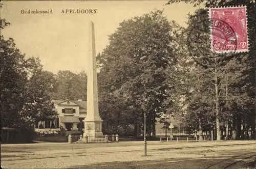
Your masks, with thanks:
[(218, 77), (217, 77), (217, 69), (215, 69), (215, 104), (216, 104), (216, 130), (217, 130), (217, 140), (221, 140), (220, 133), (220, 121), (219, 121), (219, 113), (220, 113), (220, 105), (219, 105), (219, 87), (218, 87)]

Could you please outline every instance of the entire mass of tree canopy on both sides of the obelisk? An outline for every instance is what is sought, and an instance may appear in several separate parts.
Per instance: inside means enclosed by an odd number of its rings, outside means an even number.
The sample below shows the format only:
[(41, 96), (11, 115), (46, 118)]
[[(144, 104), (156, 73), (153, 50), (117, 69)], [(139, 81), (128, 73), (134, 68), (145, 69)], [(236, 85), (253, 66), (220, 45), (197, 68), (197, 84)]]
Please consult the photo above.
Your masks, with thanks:
[[(226, 136), (231, 131), (242, 136), (249, 128), (255, 134), (255, 3), (183, 2), (202, 7), (188, 14), (187, 27), (154, 10), (120, 22), (98, 53), (104, 133), (132, 134), (130, 129), (144, 125), (145, 114), (148, 135), (155, 135), (156, 118), (166, 123), (167, 116), (200, 135), (216, 129), (218, 140), (224, 130)], [(212, 52), (207, 8), (232, 5), (247, 7), (249, 52)], [(0, 19), (1, 30), (9, 24)], [(51, 99), (87, 99), (86, 72), (53, 74), (42, 69), (39, 59), (19, 51), (12, 38), (0, 40), (1, 127), (53, 118)]]

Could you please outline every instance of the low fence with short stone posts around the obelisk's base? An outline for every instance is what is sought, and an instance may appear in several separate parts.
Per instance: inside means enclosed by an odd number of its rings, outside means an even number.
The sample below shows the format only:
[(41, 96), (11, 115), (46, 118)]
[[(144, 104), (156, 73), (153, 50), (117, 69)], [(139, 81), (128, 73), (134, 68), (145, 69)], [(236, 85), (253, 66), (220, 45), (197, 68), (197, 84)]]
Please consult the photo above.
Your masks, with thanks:
[(69, 143), (113, 143), (119, 142), (119, 136), (105, 135), (105, 136), (82, 136), (82, 135), (69, 135)]

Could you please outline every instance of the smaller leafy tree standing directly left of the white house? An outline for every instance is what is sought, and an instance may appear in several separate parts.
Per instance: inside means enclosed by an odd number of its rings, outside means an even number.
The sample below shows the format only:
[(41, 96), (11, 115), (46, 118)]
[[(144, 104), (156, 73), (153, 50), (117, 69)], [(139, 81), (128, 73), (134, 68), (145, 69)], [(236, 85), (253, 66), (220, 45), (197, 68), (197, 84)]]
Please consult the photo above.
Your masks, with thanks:
[(52, 119), (56, 113), (50, 94), (54, 90), (55, 79), (52, 72), (42, 70), (39, 59), (28, 60), (31, 71), (26, 84), (26, 102), (20, 115), (32, 123), (46, 118)]

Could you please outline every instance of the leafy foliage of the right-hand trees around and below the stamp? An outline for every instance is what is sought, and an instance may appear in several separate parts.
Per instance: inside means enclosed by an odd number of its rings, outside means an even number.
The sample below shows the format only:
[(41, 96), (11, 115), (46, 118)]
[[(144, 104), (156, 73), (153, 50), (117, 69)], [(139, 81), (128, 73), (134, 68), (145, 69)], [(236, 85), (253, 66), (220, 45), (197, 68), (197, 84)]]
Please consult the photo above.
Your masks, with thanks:
[[(169, 1), (167, 4), (177, 2), (181, 1)], [(203, 3), (196, 0), (183, 2), (193, 3), (194, 6)], [(215, 122), (217, 125), (217, 139), (220, 139), (220, 127), (225, 123), (228, 124), (229, 121), (236, 121), (232, 123), (233, 130), (241, 131), (239, 127), (241, 120), (255, 128), (253, 122), (247, 118), (255, 116), (253, 113), (255, 111), (253, 110), (255, 108), (253, 105), (255, 101), (255, 54), (253, 54), (255, 53), (255, 4), (249, 0), (205, 2), (206, 8), (232, 5), (247, 6), (248, 35), (251, 44), (248, 53), (215, 54), (209, 50), (207, 9), (200, 9), (195, 14), (189, 15), (186, 29), (186, 45), (190, 51), (189, 56), (193, 58), (193, 62), (190, 63), (193, 71), (187, 74), (192, 83), (187, 84), (191, 91), (186, 95), (188, 99), (185, 121), (187, 119), (187, 122), (191, 122), (188, 125), (193, 126), (200, 119), (198, 115), (203, 115), (201, 120), (206, 117), (207, 119), (215, 117), (216, 120), (211, 119), (210, 122)]]

